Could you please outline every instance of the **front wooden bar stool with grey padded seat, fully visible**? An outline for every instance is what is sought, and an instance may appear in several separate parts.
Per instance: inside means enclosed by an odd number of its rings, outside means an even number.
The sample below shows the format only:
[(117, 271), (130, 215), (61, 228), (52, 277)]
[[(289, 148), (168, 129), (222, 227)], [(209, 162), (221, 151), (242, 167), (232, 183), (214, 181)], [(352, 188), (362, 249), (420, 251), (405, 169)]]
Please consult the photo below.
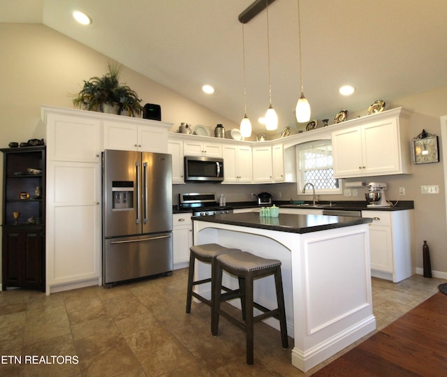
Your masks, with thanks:
[[(231, 316), (220, 308), (221, 302), (228, 300), (221, 294), (222, 273), (223, 270), (237, 276), (239, 279), (238, 294), (233, 291), (233, 298), (240, 297), (242, 306), (242, 321)], [(274, 275), (274, 284), (277, 292), (277, 309), (267, 309), (254, 302), (253, 282), (254, 279)], [(254, 323), (258, 320), (274, 317), (279, 320), (281, 328), (281, 341), (283, 348), (288, 348), (286, 311), (284, 308), (284, 293), (282, 288), (281, 261), (275, 259), (266, 259), (255, 256), (254, 254), (229, 253), (217, 256), (216, 258), (216, 279), (214, 281), (214, 304), (212, 306), (212, 334), (217, 336), (219, 327), (219, 314), (235, 323), (235, 325), (245, 331), (247, 337), (247, 364), (253, 364), (254, 355)], [(223, 297), (222, 297), (223, 296)], [(256, 308), (263, 313), (254, 316), (253, 309)]]

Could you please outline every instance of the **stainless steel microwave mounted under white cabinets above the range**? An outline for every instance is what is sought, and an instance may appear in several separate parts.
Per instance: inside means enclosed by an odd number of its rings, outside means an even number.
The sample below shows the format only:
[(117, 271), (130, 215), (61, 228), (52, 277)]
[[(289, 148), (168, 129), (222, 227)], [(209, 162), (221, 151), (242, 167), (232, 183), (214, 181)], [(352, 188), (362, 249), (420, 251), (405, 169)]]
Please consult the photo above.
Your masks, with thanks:
[(222, 158), (184, 156), (184, 182), (219, 183), (222, 181)]

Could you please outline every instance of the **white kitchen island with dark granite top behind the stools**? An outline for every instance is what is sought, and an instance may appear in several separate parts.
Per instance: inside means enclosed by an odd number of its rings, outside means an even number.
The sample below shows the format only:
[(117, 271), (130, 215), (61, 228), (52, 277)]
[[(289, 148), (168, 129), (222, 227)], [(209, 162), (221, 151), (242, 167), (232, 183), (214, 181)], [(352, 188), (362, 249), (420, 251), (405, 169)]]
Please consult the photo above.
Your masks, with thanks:
[[(287, 330), (295, 339), (291, 362), (308, 371), (376, 328), (369, 265), (371, 221), (298, 214), (260, 217), (254, 212), (195, 216), (193, 239), (194, 244), (215, 242), (281, 260)], [(196, 279), (207, 276), (210, 265), (198, 263)], [(237, 288), (237, 279), (228, 274), (223, 283)], [(210, 285), (200, 286), (200, 294), (210, 296)], [(255, 281), (254, 297), (263, 306), (276, 307), (272, 276)], [(240, 306), (238, 300), (233, 304)], [(265, 322), (279, 329), (274, 318)]]

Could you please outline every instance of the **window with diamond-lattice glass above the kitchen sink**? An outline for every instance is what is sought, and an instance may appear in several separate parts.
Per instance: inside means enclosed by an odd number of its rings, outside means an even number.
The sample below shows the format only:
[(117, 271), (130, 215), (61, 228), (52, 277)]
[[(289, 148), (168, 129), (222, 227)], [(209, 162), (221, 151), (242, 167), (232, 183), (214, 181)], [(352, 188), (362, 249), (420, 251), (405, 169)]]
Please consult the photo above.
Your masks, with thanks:
[[(316, 140), (297, 146), (298, 193), (307, 183), (318, 193), (342, 193), (339, 180), (332, 169), (332, 141)], [(309, 190), (312, 193), (312, 190)]]

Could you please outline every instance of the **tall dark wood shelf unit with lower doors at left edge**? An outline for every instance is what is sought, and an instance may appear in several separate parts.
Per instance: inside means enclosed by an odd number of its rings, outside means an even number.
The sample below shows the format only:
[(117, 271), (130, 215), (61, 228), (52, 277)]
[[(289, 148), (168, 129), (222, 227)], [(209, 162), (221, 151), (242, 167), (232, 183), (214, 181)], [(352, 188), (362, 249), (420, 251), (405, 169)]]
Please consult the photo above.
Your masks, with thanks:
[[(3, 148), (2, 289), (45, 292), (45, 147)], [(37, 174), (29, 169), (40, 170)], [(36, 196), (39, 187), (40, 196)], [(20, 193), (29, 198), (21, 199)], [(20, 212), (16, 221), (13, 212)]]

